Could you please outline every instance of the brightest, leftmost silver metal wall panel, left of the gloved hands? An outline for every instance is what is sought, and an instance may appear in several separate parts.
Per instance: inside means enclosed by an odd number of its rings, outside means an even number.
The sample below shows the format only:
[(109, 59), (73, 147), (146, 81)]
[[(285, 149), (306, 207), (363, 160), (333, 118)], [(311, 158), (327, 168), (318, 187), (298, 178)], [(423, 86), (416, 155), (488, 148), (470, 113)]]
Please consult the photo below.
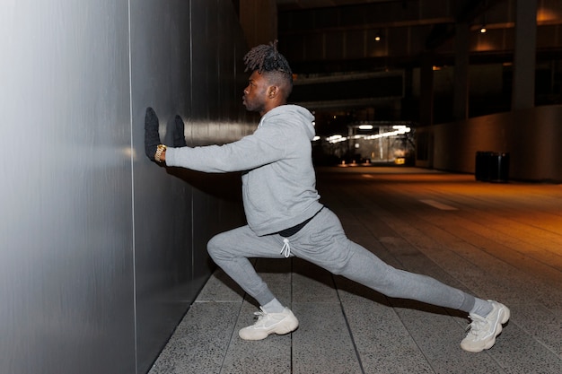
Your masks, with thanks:
[(0, 372), (135, 370), (127, 0), (0, 4)]

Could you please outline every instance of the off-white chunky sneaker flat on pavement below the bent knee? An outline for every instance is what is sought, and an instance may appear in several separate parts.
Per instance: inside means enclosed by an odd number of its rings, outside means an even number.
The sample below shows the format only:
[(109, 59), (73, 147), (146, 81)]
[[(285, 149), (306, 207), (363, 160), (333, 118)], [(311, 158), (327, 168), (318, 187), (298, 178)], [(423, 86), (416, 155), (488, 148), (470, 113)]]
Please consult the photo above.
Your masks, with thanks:
[(238, 332), (238, 335), (244, 340), (261, 340), (270, 334), (289, 334), (299, 326), (298, 319), (288, 308), (285, 308), (281, 313), (266, 313), (261, 309), (254, 314), (258, 316), (258, 322), (252, 326), (244, 327)]

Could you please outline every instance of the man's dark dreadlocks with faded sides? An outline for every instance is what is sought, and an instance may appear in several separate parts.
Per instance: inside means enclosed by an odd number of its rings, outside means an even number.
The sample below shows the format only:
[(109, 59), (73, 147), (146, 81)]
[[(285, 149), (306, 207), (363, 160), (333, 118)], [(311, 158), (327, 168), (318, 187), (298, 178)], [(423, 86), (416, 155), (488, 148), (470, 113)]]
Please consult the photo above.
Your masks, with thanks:
[(259, 74), (267, 74), (277, 82), (279, 80), (288, 83), (287, 95), (293, 88), (293, 72), (286, 58), (277, 51), (277, 39), (269, 42), (269, 45), (261, 44), (251, 48), (244, 56), (245, 71), (258, 71)]

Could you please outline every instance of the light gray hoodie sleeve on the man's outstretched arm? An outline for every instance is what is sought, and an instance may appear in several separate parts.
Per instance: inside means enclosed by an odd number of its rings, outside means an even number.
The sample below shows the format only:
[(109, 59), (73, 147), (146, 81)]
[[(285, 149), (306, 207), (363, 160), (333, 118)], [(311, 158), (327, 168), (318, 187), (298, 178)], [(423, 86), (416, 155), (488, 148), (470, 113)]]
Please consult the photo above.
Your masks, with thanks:
[(285, 142), (284, 132), (277, 126), (262, 126), (230, 144), (168, 148), (166, 164), (215, 173), (252, 170), (282, 159)]

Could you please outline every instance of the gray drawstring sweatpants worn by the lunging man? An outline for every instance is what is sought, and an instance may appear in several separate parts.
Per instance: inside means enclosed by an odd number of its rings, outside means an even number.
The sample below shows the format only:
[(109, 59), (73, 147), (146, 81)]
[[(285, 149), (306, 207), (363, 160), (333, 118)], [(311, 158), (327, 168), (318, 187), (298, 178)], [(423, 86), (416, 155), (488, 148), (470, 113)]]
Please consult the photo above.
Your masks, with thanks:
[[(277, 234), (257, 236), (248, 226), (216, 235), (207, 249), (216, 265), (266, 305), (275, 296), (251, 265), (249, 257), (283, 258), (285, 242)], [(367, 249), (347, 239), (336, 214), (324, 208), (289, 239), (291, 256), (319, 265), (393, 298), (423, 301), (470, 312), (475, 299), (426, 275), (412, 274), (387, 265)]]

